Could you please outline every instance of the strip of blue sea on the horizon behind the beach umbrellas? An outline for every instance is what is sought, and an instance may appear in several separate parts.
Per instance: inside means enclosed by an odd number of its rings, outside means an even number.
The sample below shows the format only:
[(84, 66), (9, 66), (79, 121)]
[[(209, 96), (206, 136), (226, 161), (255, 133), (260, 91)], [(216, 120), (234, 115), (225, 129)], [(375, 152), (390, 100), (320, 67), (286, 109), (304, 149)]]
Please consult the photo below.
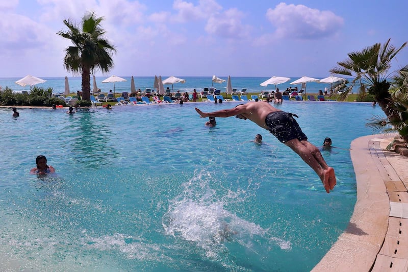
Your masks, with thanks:
[[(226, 90), (226, 80), (227, 76), (220, 77), (221, 79), (224, 79), (225, 82), (223, 83), (213, 83), (212, 82), (212, 76), (209, 77), (183, 77), (183, 76), (176, 76), (177, 78), (185, 79), (186, 83), (177, 83), (173, 85), (165, 85), (164, 87), (169, 87), (170, 89), (174, 90), (176, 92), (177, 90), (180, 90), (180, 92), (192, 92), (194, 89), (196, 89), (198, 92), (201, 91), (203, 88), (216, 88), (217, 90), (221, 90), (221, 92), (225, 92)], [(41, 77), (40, 77), (41, 78)], [(103, 93), (108, 93), (110, 89), (116, 93), (122, 93), (122, 92), (130, 92), (131, 89), (131, 77), (121, 77), (125, 79), (126, 81), (123, 82), (115, 82), (115, 83), (102, 83), (103, 80), (107, 79), (107, 77), (96, 77), (96, 85), (97, 87), (101, 90)], [(165, 80), (167, 77), (162, 76), (162, 80)], [(291, 82), (294, 82), (295, 80), (299, 79), (300, 77), (291, 77), (290, 80), (286, 83), (282, 83), (279, 85), (276, 85), (279, 90), (285, 90), (288, 87), (298, 87), (300, 90), (301, 84), (290, 84)], [(30, 86), (24, 86), (21, 87), (20, 85), (16, 84), (15, 82), (19, 80), (20, 78), (0, 78), (0, 86), (2, 88), (5, 88), (6, 86), (12, 89), (15, 92), (21, 92), (22, 90), (27, 90), (30, 91)], [(53, 88), (54, 93), (63, 93), (64, 88), (65, 88), (65, 76), (64, 77), (44, 77), (41, 78), (43, 80), (46, 80), (45, 83), (41, 83), (36, 85), (37, 87), (42, 87), (42, 88)], [(275, 90), (274, 85), (269, 85), (268, 87), (262, 87), (260, 84), (266, 80), (268, 80), (269, 77), (231, 77), (231, 84), (233, 89), (237, 90), (242, 90), (243, 88), (247, 89), (247, 92), (254, 92), (254, 93), (261, 93), (262, 91), (271, 91)], [(317, 78), (317, 79), (322, 79), (322, 78)], [(155, 81), (155, 76), (151, 77), (134, 77), (135, 80), (135, 87), (136, 89), (140, 90), (145, 90), (146, 88), (153, 88), (153, 84)], [(78, 90), (81, 90), (81, 82), (82, 79), (81, 77), (68, 77), (68, 82), (69, 82), (69, 87), (70, 87), (70, 92), (71, 93), (76, 93)], [(92, 88), (92, 77), (90, 80), (91, 88)], [(309, 93), (317, 93), (319, 90), (323, 90), (327, 88), (330, 88), (330, 84), (326, 83), (316, 83), (316, 82), (310, 82), (306, 84), (306, 91)]]

